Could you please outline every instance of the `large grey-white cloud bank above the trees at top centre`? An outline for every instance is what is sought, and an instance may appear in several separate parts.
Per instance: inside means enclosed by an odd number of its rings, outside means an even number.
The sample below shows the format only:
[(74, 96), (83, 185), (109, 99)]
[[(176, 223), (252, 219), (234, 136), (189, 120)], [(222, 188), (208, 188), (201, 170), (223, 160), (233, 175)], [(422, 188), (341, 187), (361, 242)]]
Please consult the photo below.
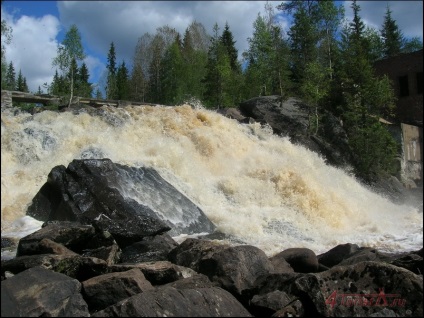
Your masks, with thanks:
[[(218, 23), (221, 31), (228, 22), (239, 54), (247, 49), (253, 22), (264, 11), (265, 1), (59, 1), (62, 23), (76, 24), (93, 51), (107, 56), (115, 44), (117, 62), (132, 63), (138, 38), (168, 25), (181, 35), (196, 20), (212, 34)], [(270, 1), (275, 7), (281, 1)]]

